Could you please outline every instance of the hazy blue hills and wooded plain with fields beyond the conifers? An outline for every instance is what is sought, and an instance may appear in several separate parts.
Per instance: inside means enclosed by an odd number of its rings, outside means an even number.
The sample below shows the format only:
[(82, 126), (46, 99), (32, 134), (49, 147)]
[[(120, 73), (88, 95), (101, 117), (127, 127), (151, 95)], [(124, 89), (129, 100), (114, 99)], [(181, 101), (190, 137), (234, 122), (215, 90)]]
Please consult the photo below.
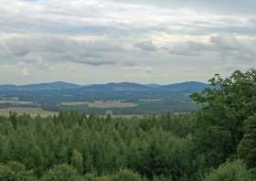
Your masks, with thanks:
[[(133, 82), (78, 85), (60, 81), (19, 86), (0, 85), (0, 107), (37, 105), (47, 111), (80, 110), (104, 114), (111, 110), (119, 115), (194, 112), (197, 106), (192, 103), (189, 95), (208, 87), (208, 84), (197, 81), (169, 85)], [(30, 103), (24, 104), (24, 101)], [(98, 104), (88, 106), (88, 102)]]

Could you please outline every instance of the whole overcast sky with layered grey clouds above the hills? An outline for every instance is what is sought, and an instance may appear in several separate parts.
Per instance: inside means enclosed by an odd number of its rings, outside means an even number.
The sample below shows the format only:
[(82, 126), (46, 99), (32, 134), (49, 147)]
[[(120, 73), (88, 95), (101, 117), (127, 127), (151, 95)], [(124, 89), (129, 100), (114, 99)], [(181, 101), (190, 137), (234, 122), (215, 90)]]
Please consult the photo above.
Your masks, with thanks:
[(256, 66), (255, 0), (1, 0), (0, 84), (206, 82)]

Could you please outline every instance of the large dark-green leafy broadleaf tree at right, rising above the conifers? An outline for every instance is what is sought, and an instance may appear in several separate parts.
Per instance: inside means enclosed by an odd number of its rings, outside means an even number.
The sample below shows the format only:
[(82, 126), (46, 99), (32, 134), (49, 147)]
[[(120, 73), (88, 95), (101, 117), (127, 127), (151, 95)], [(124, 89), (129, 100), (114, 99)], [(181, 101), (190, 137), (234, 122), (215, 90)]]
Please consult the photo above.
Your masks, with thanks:
[(242, 125), (256, 110), (256, 70), (237, 70), (229, 78), (216, 75), (209, 81), (212, 88), (191, 96), (205, 105), (197, 112), (194, 141), (208, 167), (216, 167), (236, 154), (244, 133)]

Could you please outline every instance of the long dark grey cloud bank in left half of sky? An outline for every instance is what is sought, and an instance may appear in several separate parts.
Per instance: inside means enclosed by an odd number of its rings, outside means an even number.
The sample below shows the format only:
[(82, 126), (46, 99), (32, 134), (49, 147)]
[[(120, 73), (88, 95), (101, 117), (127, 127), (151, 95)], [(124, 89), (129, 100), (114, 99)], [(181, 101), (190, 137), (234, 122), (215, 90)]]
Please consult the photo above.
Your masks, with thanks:
[(54, 36), (5, 38), (0, 41), (0, 48), (2, 61), (8, 56), (16, 62), (34, 63), (40, 68), (64, 61), (93, 66), (116, 64), (118, 62), (112, 55), (123, 51), (122, 44), (112, 40), (75, 40)]

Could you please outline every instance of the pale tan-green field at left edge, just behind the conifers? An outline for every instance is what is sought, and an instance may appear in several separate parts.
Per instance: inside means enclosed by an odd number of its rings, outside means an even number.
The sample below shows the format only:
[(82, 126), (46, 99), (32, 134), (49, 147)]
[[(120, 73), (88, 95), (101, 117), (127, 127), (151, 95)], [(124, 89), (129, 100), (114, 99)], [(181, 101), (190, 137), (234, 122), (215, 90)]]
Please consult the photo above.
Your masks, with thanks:
[(58, 114), (58, 112), (48, 112), (43, 110), (42, 108), (10, 107), (10, 108), (0, 109), (0, 115), (8, 116), (9, 112), (16, 112), (18, 114), (27, 113), (27, 114), (30, 114), (32, 117), (35, 117), (38, 114), (43, 117)]

